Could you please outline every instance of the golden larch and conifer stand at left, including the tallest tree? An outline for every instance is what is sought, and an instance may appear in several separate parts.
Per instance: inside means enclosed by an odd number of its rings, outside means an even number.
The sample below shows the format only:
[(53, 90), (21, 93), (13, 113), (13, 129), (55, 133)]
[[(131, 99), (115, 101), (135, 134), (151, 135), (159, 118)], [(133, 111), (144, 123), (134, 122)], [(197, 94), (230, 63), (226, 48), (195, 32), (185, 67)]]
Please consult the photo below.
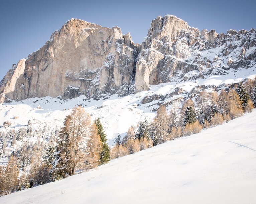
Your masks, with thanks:
[[(4, 136), (1, 134), (2, 156), (6, 154), (7, 141), (14, 146), (17, 138), (39, 137), (41, 133), (43, 130), (33, 131), (29, 127)], [(10, 155), (7, 166), (0, 166), (0, 195), (66, 178), (74, 175), (76, 170), (95, 168), (110, 160), (110, 148), (100, 119), (92, 123), (82, 107), (73, 108), (61, 130), (53, 132), (48, 142), (24, 141), (17, 149)]]

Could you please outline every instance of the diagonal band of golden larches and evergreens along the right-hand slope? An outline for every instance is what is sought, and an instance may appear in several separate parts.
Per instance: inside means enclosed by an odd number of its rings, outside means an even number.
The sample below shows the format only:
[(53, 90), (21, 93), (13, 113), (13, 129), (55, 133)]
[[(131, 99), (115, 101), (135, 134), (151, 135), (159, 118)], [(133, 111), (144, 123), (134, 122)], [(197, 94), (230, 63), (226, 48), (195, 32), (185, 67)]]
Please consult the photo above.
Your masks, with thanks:
[(151, 123), (145, 119), (132, 126), (123, 139), (120, 134), (115, 140), (111, 158), (115, 159), (128, 154), (162, 144), (181, 136), (199, 133), (203, 128), (221, 125), (251, 112), (256, 107), (256, 80), (248, 80), (234, 89), (219, 92), (201, 91), (196, 105), (191, 98), (184, 101), (180, 110), (174, 104), (167, 113), (161, 105)]

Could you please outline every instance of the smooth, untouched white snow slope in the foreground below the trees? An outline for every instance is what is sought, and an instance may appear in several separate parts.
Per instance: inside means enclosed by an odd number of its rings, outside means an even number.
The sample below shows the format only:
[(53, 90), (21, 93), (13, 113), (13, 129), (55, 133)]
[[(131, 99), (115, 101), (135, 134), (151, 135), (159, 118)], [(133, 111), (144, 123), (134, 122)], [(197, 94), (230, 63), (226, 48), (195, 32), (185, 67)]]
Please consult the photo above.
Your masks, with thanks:
[(255, 203), (256, 111), (0, 203)]

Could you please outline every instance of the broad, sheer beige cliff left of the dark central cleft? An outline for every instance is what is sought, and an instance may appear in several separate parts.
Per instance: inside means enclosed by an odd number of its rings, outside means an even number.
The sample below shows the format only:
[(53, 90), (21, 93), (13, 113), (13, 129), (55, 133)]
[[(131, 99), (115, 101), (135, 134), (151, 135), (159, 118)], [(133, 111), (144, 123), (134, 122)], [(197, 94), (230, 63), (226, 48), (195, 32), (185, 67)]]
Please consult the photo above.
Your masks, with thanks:
[(68, 99), (81, 94), (97, 98), (120, 89), (120, 95), (127, 95), (136, 53), (130, 34), (123, 35), (120, 28), (71, 19), (7, 73), (1, 100), (59, 95)]

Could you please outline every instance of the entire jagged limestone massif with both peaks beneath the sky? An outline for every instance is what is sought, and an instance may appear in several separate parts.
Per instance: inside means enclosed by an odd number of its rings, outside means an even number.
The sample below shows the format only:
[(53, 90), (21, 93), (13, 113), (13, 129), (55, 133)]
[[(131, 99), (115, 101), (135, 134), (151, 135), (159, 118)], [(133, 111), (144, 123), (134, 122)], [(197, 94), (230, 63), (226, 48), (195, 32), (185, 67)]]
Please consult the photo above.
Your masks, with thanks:
[(81, 94), (125, 96), (150, 85), (256, 68), (256, 30), (201, 32), (176, 16), (158, 16), (142, 44), (120, 28), (71, 19), (0, 83), (0, 102)]

